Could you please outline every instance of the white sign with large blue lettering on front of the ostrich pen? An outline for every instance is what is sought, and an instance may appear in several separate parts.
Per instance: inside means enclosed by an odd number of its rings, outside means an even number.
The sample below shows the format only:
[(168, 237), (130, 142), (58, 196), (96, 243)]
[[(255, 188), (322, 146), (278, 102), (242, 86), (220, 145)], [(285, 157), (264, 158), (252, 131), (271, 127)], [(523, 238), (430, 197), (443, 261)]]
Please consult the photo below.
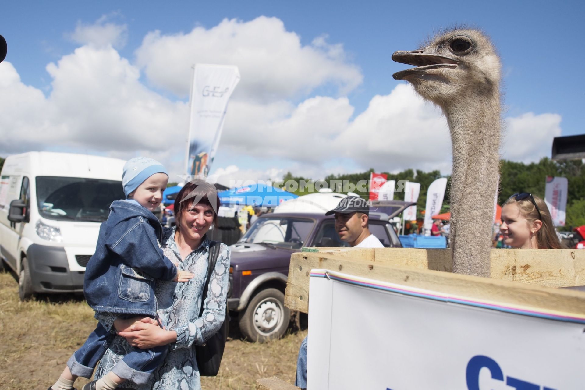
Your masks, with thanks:
[(308, 390), (585, 388), (585, 318), (312, 270)]

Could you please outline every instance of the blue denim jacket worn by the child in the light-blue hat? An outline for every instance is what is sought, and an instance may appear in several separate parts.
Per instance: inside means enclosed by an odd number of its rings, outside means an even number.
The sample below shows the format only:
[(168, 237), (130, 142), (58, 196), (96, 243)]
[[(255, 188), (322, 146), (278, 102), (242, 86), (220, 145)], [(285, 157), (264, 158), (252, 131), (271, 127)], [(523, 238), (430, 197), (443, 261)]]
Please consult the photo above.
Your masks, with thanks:
[(171, 281), (177, 275), (177, 267), (160, 249), (162, 238), (163, 228), (149, 210), (113, 202), (85, 267), (88, 305), (98, 313), (156, 316), (154, 279)]

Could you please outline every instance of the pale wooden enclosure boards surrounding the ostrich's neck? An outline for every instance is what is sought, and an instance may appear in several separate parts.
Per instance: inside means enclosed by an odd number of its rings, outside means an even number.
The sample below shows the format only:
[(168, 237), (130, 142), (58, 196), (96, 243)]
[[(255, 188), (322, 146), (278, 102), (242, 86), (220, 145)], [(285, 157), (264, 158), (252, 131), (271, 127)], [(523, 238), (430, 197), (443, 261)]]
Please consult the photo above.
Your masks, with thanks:
[[(308, 313), (309, 274), (320, 268), (518, 308), (585, 316), (585, 292), (558, 289), (585, 285), (585, 250), (494, 249), (491, 278), (453, 274), (448, 249), (304, 250), (291, 256), (285, 292), (285, 305), (291, 310)], [(264, 378), (256, 382), (256, 389), (298, 388)]]

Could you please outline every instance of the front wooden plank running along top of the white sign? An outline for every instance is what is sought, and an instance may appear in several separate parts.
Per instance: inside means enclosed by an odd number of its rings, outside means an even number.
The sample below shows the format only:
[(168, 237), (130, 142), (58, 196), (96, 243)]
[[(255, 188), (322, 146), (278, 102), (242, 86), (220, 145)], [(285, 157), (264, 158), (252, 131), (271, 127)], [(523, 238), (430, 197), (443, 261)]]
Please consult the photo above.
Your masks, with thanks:
[(288, 272), (285, 305), (292, 310), (307, 313), (309, 272), (315, 268), (324, 268), (470, 299), (585, 315), (585, 292), (450, 272), (395, 267), (391, 263), (354, 260), (324, 253), (294, 253)]

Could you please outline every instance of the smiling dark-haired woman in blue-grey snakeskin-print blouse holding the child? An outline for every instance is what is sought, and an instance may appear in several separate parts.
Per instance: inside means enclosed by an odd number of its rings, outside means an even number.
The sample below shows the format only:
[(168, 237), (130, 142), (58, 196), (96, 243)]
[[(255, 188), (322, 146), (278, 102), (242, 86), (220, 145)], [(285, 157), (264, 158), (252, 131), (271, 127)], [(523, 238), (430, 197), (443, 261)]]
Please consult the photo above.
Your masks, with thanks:
[[(166, 229), (163, 251), (166, 257), (178, 262), (180, 270), (194, 274), (187, 283), (157, 282), (155, 296), (161, 322), (165, 329), (150, 319), (116, 319), (118, 330), (95, 372), (98, 379), (132, 350), (132, 347), (153, 348), (168, 345), (168, 354), (144, 385), (130, 381), (121, 388), (132, 389), (189, 389), (201, 388), (194, 344), (203, 344), (221, 327), (226, 313), (229, 277), (229, 248), (221, 251), (209, 281), (205, 302), (201, 294), (207, 279), (209, 240), (205, 233), (216, 222), (219, 198), (213, 185), (202, 181), (188, 182), (175, 201), (177, 226)], [(203, 315), (199, 309), (204, 305)]]

